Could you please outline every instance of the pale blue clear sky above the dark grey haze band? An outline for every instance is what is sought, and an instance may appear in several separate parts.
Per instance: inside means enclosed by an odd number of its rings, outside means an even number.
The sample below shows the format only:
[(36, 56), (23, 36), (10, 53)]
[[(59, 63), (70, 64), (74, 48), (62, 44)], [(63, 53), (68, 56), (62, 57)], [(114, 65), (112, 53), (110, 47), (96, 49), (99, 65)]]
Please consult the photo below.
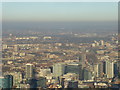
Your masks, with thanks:
[(11, 2), (3, 3), (3, 21), (76, 22), (116, 21), (117, 2)]

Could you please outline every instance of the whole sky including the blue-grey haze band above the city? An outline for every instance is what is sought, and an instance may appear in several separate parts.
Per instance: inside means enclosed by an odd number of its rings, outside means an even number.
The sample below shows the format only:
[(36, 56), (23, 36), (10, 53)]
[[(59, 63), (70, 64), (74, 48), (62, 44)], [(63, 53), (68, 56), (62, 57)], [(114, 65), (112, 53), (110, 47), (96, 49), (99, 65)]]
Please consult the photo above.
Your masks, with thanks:
[(4, 30), (116, 31), (116, 2), (3, 3)]

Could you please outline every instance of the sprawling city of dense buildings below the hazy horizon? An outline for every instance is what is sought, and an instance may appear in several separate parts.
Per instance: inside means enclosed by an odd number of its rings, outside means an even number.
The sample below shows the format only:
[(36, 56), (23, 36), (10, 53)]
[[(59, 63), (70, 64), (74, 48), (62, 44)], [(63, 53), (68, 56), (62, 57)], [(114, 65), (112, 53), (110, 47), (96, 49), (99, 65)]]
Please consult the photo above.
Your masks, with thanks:
[(120, 88), (118, 34), (3, 33), (0, 88)]

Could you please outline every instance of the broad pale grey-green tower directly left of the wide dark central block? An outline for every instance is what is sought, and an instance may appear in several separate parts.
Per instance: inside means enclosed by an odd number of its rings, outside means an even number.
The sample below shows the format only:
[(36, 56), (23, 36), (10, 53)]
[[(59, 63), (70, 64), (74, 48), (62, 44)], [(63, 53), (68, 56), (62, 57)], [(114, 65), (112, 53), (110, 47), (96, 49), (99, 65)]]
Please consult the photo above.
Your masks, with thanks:
[(53, 65), (53, 74), (55, 77), (63, 75), (65, 72), (65, 65), (63, 63), (57, 63)]

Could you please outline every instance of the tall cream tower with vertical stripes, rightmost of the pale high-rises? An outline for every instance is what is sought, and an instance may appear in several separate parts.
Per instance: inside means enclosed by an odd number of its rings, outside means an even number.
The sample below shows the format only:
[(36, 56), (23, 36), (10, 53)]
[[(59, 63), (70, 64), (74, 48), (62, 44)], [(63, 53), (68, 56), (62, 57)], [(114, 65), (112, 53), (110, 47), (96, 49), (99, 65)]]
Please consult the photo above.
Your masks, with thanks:
[(114, 77), (114, 63), (110, 61), (105, 62), (105, 74), (107, 75), (107, 78), (113, 78)]

